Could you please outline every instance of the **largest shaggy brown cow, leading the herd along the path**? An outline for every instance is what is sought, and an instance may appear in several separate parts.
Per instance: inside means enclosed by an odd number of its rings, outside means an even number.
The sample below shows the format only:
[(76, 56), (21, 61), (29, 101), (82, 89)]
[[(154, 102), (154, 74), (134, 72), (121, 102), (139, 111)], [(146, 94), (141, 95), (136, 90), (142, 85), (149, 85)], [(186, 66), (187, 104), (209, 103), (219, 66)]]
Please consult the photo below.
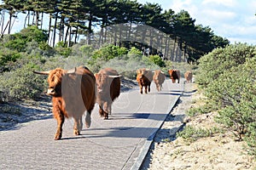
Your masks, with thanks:
[(49, 75), (47, 94), (52, 96), (52, 112), (58, 123), (55, 140), (61, 139), (65, 117), (73, 117), (73, 133), (79, 135), (83, 127), (82, 116), (86, 111), (85, 124), (90, 127), (90, 113), (96, 102), (96, 79), (88, 68), (79, 66), (70, 71), (56, 68), (33, 72)]

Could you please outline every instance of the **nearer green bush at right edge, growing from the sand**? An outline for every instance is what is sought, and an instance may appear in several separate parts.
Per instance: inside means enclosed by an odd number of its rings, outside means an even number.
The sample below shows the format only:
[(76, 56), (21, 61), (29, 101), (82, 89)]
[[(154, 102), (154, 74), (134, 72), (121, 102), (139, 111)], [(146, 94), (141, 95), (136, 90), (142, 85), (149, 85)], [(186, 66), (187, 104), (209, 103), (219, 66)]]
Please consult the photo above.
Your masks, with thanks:
[(218, 122), (230, 127), (238, 139), (250, 122), (256, 122), (255, 75), (256, 57), (225, 71), (206, 89), (207, 97), (218, 105)]

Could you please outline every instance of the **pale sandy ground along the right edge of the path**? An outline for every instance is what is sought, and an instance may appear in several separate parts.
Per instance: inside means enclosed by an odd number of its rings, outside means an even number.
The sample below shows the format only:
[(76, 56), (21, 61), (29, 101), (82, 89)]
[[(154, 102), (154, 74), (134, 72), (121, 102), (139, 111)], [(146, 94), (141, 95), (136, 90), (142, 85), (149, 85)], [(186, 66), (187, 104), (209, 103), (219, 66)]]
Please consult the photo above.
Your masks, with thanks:
[[(175, 134), (172, 133), (173, 123), (169, 120), (184, 121), (183, 114), (185, 111), (191, 106), (197, 105), (193, 101), (201, 98), (201, 94), (195, 91), (195, 85), (186, 84), (185, 93), (156, 134), (154, 143), (151, 145), (141, 169), (256, 170), (255, 158), (247, 156), (244, 150), (246, 143), (235, 141), (229, 132), (218, 133), (212, 137), (198, 139), (195, 142), (175, 138)], [(214, 113), (210, 113), (189, 118), (186, 126), (206, 128), (219, 126), (213, 121), (213, 116)]]

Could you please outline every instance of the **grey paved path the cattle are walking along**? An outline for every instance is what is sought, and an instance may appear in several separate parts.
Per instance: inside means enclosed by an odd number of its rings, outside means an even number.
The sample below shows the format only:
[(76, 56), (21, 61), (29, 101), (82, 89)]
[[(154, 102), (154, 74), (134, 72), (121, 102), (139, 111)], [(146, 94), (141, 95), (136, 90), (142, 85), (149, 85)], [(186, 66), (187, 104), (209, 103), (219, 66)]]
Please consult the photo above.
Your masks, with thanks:
[(54, 140), (53, 118), (32, 121), (0, 132), (0, 169), (137, 169), (148, 140), (172, 110), (183, 84), (166, 80), (158, 93), (122, 93), (109, 120), (92, 112), (90, 128), (73, 136), (73, 120), (64, 123), (62, 139)]

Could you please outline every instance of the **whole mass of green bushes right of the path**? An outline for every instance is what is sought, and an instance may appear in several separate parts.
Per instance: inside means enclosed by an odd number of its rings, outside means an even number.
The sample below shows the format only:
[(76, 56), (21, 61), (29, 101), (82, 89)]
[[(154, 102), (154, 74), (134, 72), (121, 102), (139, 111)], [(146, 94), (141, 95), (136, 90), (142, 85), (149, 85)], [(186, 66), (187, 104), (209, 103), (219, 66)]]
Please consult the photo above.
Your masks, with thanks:
[[(213, 65), (213, 66), (212, 66)], [(256, 48), (246, 44), (218, 48), (202, 57), (197, 81), (218, 111), (216, 121), (256, 148)]]

